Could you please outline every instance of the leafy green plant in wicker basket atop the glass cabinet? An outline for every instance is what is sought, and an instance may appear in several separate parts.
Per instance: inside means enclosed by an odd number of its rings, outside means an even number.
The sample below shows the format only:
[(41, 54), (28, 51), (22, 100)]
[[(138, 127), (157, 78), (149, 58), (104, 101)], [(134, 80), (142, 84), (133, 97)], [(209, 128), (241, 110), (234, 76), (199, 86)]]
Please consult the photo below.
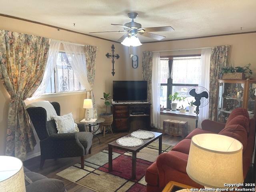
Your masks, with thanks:
[(222, 79), (250, 79), (250, 76), (252, 75), (252, 70), (250, 69), (250, 66), (250, 63), (243, 67), (233, 67), (231, 64), (228, 64), (228, 66), (222, 67)]

